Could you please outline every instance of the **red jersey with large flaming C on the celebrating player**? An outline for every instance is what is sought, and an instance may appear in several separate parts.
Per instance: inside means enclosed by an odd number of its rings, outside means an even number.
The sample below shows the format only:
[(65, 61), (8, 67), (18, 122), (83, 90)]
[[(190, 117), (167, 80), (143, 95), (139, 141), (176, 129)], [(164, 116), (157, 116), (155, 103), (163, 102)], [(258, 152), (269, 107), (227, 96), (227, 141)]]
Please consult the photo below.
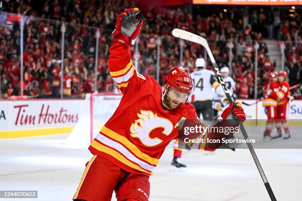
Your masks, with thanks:
[(150, 175), (165, 147), (178, 137), (178, 121), (197, 119), (195, 108), (181, 103), (164, 110), (160, 85), (136, 71), (129, 46), (113, 43), (108, 66), (123, 97), (89, 150), (128, 172)]

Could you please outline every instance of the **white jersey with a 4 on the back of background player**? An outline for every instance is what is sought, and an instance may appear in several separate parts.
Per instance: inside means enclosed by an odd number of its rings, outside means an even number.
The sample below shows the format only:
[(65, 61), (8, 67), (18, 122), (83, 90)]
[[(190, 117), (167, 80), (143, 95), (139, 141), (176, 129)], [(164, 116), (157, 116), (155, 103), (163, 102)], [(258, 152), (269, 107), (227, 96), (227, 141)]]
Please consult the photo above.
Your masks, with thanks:
[(213, 100), (214, 90), (220, 85), (215, 73), (208, 69), (196, 70), (191, 73), (194, 88), (194, 101)]

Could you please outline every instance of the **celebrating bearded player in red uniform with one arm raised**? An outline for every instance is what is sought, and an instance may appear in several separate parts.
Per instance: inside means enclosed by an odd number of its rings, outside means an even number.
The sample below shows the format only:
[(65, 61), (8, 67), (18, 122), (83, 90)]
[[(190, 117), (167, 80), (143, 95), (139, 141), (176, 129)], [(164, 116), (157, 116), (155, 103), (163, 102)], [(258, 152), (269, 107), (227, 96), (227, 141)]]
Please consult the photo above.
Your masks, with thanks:
[[(76, 189), (75, 201), (110, 201), (113, 191), (117, 201), (148, 201), (149, 176), (165, 147), (178, 137), (179, 120), (197, 118), (187, 102), (192, 91), (187, 70), (174, 67), (160, 87), (133, 66), (130, 45), (143, 25), (136, 17), (139, 12), (138, 8), (127, 9), (116, 21), (108, 66), (123, 97), (89, 146), (93, 157)], [(239, 103), (230, 104), (222, 117), (245, 120)]]

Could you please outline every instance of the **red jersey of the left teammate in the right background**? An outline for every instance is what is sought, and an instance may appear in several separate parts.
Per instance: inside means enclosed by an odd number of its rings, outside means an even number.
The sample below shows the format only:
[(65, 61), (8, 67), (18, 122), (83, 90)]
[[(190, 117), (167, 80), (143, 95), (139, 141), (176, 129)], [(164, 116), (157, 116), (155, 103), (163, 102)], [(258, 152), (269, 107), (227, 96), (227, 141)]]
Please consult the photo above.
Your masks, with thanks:
[(277, 106), (277, 100), (280, 99), (280, 92), (278, 91), (278, 82), (270, 81), (264, 91), (263, 106)]

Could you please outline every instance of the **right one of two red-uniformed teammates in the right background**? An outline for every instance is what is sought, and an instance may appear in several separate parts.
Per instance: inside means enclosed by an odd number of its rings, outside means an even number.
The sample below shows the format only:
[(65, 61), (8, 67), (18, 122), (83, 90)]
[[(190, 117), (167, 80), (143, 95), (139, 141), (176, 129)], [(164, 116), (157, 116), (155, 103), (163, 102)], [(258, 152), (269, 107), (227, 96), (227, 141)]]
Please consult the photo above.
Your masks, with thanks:
[(278, 93), (279, 96), (278, 104), (277, 104), (277, 132), (278, 134), (276, 136), (273, 136), (272, 138), (279, 138), (282, 137), (281, 133), (281, 125), (284, 129), (285, 136), (283, 139), (288, 139), (291, 137), (288, 123), (287, 123), (287, 117), (288, 117), (288, 111), (289, 111), (289, 102), (292, 100), (292, 97), (290, 96), (290, 86), (288, 81), (286, 81), (287, 73), (285, 71), (280, 71), (278, 73)]

